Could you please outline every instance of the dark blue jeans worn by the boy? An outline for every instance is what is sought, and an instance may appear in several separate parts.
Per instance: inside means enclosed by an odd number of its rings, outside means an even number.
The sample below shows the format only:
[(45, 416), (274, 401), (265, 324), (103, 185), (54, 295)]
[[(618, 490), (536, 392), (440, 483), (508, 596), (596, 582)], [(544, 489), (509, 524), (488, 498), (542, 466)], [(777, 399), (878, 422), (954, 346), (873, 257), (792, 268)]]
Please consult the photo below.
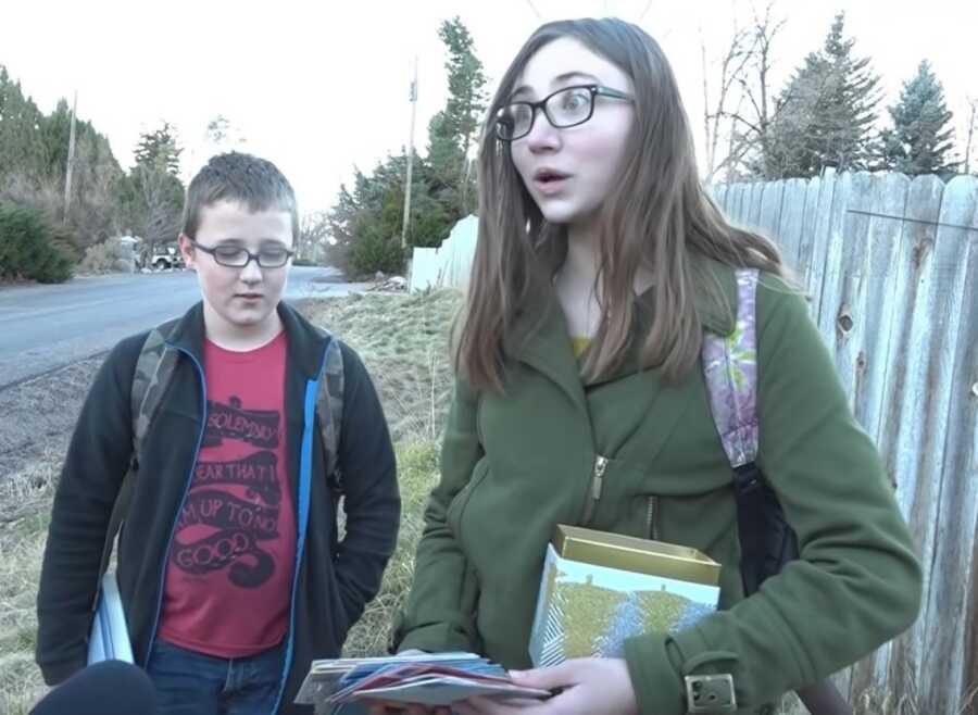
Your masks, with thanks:
[(249, 657), (204, 655), (156, 639), (147, 673), (158, 715), (273, 715), (285, 645)]

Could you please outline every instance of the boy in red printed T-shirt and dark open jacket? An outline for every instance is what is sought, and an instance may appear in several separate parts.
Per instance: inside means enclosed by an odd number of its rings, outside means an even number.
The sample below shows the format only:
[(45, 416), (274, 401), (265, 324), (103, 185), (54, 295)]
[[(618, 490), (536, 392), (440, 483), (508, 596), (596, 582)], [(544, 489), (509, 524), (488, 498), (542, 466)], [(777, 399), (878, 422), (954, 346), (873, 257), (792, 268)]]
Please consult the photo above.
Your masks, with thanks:
[(165, 385), (150, 382), (162, 391), (153, 414), (138, 415), (150, 422), (136, 454), (130, 398), (148, 334), (115, 347), (85, 402), (38, 593), (48, 683), (85, 665), (130, 465), (117, 578), (161, 715), (306, 712), (292, 701), (310, 662), (339, 654), (376, 594), (400, 517), (393, 450), (363, 363), (339, 343), (347, 522), (337, 542), (321, 437), (330, 414), (315, 409), (330, 338), (281, 301), (298, 226), (292, 188), (267, 161), (223, 154), (190, 183), (179, 246), (203, 301), (161, 329), (175, 362)]

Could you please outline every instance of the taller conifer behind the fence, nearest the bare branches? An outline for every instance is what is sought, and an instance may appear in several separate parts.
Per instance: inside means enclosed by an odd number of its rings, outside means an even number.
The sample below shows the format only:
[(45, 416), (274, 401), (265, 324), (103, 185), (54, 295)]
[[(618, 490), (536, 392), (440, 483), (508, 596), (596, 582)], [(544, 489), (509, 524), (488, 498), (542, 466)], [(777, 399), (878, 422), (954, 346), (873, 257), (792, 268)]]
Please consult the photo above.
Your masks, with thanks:
[(848, 171), (869, 165), (879, 77), (868, 58), (854, 57), (855, 40), (843, 36), (844, 23), (844, 14), (838, 14), (823, 49), (805, 58), (777, 98), (768, 152), (760, 167), (766, 178), (816, 176), (824, 166)]

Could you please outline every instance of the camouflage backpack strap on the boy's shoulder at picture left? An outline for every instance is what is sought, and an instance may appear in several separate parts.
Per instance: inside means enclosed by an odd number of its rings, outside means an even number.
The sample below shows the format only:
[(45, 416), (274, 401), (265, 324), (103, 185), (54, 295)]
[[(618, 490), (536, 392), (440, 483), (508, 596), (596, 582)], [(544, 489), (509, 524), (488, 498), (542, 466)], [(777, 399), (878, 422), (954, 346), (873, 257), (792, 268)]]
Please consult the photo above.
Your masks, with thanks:
[(153, 417), (156, 416), (163, 392), (173, 377), (173, 368), (176, 366), (178, 353), (167, 347), (166, 339), (176, 324), (177, 321), (174, 319), (150, 330), (136, 361), (133, 385), (129, 388), (129, 409), (133, 416), (133, 457), (129, 461), (129, 471), (123, 477), (118, 494), (115, 498), (112, 515), (109, 517), (109, 530), (105, 532), (105, 545), (102, 549), (102, 562), (99, 567), (100, 577), (109, 567), (115, 536), (129, 511), (136, 473), (139, 471), (139, 452), (142, 448), (142, 440), (149, 431)]

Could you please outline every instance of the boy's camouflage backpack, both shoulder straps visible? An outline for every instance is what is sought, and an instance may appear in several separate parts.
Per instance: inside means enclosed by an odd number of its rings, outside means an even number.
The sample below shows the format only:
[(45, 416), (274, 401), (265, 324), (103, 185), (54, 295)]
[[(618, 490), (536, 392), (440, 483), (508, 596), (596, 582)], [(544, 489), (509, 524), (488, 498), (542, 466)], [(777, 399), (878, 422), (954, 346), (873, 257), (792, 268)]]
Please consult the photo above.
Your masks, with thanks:
[[(136, 361), (136, 372), (133, 375), (129, 392), (133, 415), (133, 459), (128, 472), (123, 477), (115, 505), (112, 507), (112, 515), (109, 518), (109, 530), (105, 532), (99, 578), (109, 567), (115, 537), (125, 520), (133, 499), (133, 489), (139, 472), (138, 455), (142, 440), (156, 416), (180, 354), (179, 350), (166, 342), (178, 319), (170, 321), (150, 330)], [(334, 496), (335, 506), (343, 493), (342, 475), (337, 466), (343, 415), (343, 356), (339, 342), (326, 330), (318, 329), (318, 331), (327, 340), (327, 343), (326, 358), (316, 392), (316, 414), (319, 422), (319, 436), (326, 453), (326, 478)]]

